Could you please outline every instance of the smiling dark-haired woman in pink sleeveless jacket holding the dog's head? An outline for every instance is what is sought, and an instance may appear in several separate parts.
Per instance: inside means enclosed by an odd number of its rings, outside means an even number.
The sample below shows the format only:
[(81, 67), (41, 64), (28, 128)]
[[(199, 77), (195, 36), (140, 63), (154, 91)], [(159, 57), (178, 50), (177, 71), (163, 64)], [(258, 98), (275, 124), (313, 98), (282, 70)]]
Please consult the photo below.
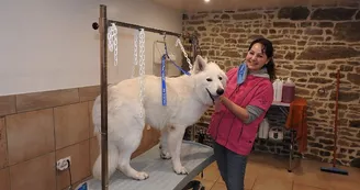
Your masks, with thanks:
[(228, 190), (244, 190), (247, 156), (258, 126), (273, 100), (272, 43), (255, 40), (245, 62), (227, 71), (224, 96), (215, 105), (209, 126), (215, 159)]

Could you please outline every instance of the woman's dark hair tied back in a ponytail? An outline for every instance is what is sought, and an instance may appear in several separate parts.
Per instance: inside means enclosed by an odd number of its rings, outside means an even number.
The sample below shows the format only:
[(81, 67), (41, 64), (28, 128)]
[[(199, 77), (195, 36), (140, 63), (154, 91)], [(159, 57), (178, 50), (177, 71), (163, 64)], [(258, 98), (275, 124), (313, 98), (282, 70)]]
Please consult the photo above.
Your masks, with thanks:
[(273, 63), (272, 43), (267, 38), (260, 37), (251, 42), (248, 51), (250, 51), (252, 45), (257, 43), (262, 44), (262, 53), (265, 53), (269, 58), (269, 63), (266, 64), (263, 67), (267, 68), (268, 74), (270, 76), (270, 80), (273, 81), (277, 78), (277, 76), (275, 76), (275, 64)]

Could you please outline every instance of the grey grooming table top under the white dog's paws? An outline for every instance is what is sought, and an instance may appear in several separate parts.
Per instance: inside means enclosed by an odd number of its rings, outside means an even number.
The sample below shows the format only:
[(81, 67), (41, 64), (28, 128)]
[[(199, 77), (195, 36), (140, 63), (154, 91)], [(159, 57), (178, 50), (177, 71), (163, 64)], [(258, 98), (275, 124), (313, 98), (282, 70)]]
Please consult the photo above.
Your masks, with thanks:
[[(181, 163), (188, 175), (177, 175), (172, 170), (171, 159), (160, 158), (159, 145), (131, 160), (136, 170), (149, 175), (146, 180), (134, 180), (116, 170), (109, 179), (109, 190), (182, 190), (204, 168), (214, 161), (213, 148), (192, 141), (183, 141), (181, 146)], [(90, 179), (89, 190), (101, 190), (101, 181)]]

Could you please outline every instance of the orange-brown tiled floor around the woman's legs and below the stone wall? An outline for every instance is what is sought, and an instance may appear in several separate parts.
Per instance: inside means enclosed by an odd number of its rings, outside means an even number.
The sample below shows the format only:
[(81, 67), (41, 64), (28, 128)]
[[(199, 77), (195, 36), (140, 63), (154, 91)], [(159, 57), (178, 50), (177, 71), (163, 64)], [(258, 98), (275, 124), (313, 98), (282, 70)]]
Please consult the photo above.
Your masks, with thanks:
[[(349, 176), (320, 171), (329, 164), (312, 160), (294, 160), (295, 169), (288, 172), (289, 160), (269, 154), (252, 154), (245, 177), (246, 190), (359, 190), (360, 169), (344, 168)], [(202, 181), (206, 190), (226, 190), (215, 163), (204, 170)], [(358, 188), (357, 188), (358, 187)]]

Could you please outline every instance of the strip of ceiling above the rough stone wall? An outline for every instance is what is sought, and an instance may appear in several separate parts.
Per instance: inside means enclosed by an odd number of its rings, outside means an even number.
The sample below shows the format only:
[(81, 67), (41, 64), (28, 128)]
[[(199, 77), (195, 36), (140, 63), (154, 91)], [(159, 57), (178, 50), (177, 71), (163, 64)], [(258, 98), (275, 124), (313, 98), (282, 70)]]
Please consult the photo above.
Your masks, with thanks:
[[(153, 0), (156, 3), (184, 12), (334, 4), (339, 0)], [(342, 0), (344, 1), (344, 0)]]

